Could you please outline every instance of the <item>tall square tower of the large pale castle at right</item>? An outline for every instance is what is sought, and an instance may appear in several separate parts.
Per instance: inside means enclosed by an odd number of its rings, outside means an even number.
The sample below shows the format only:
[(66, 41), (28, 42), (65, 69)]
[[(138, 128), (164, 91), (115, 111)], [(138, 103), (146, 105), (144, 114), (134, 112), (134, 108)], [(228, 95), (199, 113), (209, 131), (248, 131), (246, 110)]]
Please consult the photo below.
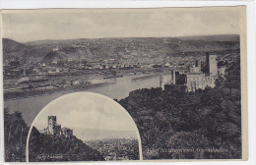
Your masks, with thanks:
[(207, 62), (207, 73), (210, 73), (213, 76), (217, 76), (218, 74), (217, 54), (207, 52), (206, 62)]

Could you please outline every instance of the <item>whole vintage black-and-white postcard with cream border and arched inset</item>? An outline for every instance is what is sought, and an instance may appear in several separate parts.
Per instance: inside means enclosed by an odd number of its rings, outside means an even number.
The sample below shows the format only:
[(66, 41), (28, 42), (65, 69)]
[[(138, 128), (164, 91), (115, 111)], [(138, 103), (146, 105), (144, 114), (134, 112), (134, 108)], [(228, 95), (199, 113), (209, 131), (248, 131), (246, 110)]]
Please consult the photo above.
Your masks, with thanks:
[(2, 10), (4, 161), (246, 160), (245, 13)]

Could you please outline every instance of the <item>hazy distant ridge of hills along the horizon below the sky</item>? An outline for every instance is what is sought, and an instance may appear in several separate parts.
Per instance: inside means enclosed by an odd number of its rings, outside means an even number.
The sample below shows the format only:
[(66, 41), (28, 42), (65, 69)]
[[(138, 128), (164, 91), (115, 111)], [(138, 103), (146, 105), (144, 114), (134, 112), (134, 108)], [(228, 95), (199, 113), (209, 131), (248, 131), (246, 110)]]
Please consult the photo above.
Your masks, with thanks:
[[(82, 38), (38, 40), (26, 44), (4, 38), (4, 55), (19, 52), (33, 61), (61, 60), (100, 61), (111, 58), (161, 58), (182, 53), (238, 50), (239, 35), (205, 35), (182, 37)], [(58, 46), (60, 53), (53, 53)]]

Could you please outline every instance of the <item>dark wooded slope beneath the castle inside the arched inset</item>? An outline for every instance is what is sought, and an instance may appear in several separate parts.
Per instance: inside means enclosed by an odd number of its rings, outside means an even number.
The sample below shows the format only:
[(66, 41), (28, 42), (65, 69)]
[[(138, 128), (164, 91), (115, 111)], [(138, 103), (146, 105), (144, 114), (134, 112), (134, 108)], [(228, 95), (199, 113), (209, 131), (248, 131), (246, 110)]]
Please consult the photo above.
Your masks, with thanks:
[(81, 139), (40, 134), (32, 128), (29, 144), (30, 162), (100, 161), (104, 158)]

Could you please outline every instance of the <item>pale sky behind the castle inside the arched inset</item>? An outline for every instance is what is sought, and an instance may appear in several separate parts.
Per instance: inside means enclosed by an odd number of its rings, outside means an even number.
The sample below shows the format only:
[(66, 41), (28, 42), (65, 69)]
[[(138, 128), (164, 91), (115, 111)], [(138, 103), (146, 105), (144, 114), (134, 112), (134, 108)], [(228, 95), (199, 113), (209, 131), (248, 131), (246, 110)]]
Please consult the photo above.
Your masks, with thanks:
[(33, 126), (46, 128), (48, 116), (56, 116), (57, 124), (73, 129), (81, 139), (137, 137), (137, 127), (128, 112), (96, 93), (78, 92), (57, 98), (41, 110)]

